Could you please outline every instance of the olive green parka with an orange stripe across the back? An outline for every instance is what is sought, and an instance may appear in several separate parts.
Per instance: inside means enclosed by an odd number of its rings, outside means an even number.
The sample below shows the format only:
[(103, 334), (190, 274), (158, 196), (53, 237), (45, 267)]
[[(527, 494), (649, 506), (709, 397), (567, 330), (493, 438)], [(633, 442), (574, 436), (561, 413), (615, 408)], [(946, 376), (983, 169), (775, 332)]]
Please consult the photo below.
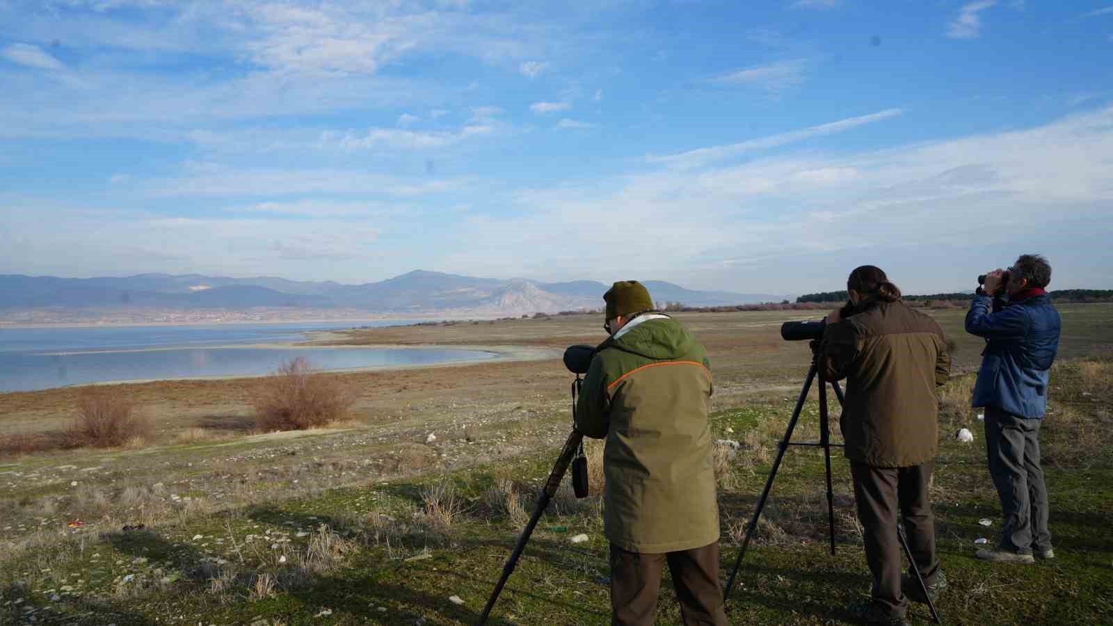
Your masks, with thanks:
[(607, 439), (607, 538), (661, 554), (719, 539), (707, 350), (663, 314), (631, 320), (591, 361), (577, 429)]

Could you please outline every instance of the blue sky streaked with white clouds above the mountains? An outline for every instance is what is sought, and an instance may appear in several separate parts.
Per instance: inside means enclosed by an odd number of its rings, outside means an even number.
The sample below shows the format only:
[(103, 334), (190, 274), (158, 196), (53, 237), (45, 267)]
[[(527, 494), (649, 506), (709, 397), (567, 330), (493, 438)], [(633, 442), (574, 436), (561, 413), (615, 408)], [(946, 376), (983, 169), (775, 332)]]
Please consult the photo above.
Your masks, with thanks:
[(1110, 0), (0, 0), (0, 273), (1113, 287)]

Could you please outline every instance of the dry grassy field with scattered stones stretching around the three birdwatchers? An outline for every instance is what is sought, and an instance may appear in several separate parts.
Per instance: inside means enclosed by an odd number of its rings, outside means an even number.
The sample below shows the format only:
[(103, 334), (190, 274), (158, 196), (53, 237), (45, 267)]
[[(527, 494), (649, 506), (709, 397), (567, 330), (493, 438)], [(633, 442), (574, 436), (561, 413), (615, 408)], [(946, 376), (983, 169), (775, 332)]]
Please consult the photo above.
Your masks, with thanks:
[[(1061, 312), (1041, 437), (1060, 558), (1014, 567), (973, 557), (974, 540), (993, 541), (999, 528), (977, 411), (966, 407), (982, 342), (962, 332), (964, 311), (932, 312), (956, 344), (932, 488), (951, 583), (938, 604), (945, 623), (1095, 624), (1113, 614), (1113, 307)], [(715, 436), (740, 443), (717, 453), (723, 569), (807, 369), (807, 348), (778, 335), (799, 316), (680, 316), (712, 360)], [(601, 340), (600, 322), (373, 329), (329, 341), (563, 348)], [(146, 446), (0, 458), (0, 624), (474, 623), (568, 434), (571, 376), (550, 360), (336, 378), (356, 400), (349, 421), (328, 429), (254, 433), (249, 382), (166, 381), (119, 388), (155, 422)], [(0, 437), (65, 428), (75, 394), (0, 394)], [(817, 409), (812, 397), (797, 439), (816, 437)], [(952, 437), (964, 427), (973, 444)], [(601, 451), (589, 452), (598, 493)], [(834, 468), (837, 554), (826, 547), (823, 458), (795, 448), (728, 605), (732, 623), (847, 623), (847, 605), (868, 595), (849, 472), (838, 457)], [(600, 506), (562, 489), (493, 623), (609, 622)], [(145, 528), (122, 530), (137, 524)], [(579, 534), (588, 540), (573, 544)], [(926, 610), (913, 617), (926, 623)], [(678, 622), (666, 581), (659, 623)]]

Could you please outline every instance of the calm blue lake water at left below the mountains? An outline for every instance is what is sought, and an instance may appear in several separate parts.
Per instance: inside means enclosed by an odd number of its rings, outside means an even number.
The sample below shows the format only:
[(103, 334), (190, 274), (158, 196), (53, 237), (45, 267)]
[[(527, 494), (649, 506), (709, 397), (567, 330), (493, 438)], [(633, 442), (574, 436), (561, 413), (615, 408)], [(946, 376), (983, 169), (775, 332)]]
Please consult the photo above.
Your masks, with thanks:
[(0, 392), (118, 380), (260, 375), (295, 356), (324, 370), (494, 356), (476, 350), (258, 345), (304, 341), (309, 331), (408, 323), (413, 321), (0, 329)]

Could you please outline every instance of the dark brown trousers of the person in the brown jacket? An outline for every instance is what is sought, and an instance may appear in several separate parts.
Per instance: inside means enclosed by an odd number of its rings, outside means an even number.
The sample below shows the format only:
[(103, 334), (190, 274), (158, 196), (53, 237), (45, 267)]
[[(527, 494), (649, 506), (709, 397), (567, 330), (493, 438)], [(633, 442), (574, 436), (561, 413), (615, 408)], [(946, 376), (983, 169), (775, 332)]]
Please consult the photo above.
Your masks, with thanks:
[(935, 555), (935, 521), (927, 483), (935, 461), (908, 468), (878, 468), (850, 462), (854, 498), (858, 505), (866, 561), (874, 575), (874, 603), (888, 609), (889, 617), (904, 617), (908, 598), (900, 593), (904, 550), (897, 537), (897, 509), (905, 537), (924, 584), (933, 585), (939, 571)]

